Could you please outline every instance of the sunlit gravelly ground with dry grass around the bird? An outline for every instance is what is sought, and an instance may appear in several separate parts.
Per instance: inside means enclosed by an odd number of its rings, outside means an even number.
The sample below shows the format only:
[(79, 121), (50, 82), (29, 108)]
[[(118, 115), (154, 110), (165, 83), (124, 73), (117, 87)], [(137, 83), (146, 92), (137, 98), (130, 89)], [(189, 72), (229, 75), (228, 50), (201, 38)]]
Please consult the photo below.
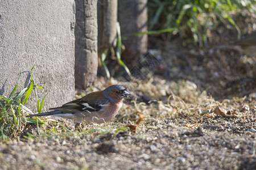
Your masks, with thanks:
[[(256, 17), (243, 15), (242, 33), (255, 31)], [(207, 47), (150, 40), (159, 42), (153, 73), (77, 90), (127, 87), (133, 98), (116, 120), (27, 125), (30, 137), (0, 141), (0, 169), (256, 169), (256, 56), (212, 50), (236, 31), (221, 27)]]

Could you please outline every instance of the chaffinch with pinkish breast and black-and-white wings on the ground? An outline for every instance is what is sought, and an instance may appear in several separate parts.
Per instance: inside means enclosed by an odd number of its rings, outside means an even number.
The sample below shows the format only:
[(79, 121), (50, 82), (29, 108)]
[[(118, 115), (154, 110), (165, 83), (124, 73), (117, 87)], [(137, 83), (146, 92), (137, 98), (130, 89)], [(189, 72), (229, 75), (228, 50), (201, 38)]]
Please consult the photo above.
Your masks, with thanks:
[(54, 111), (31, 114), (35, 116), (59, 116), (70, 118), (77, 123), (81, 121), (101, 124), (113, 120), (123, 104), (123, 99), (129, 99), (129, 92), (119, 85), (109, 86), (103, 91), (92, 92), (81, 99), (70, 101), (61, 107), (50, 108)]

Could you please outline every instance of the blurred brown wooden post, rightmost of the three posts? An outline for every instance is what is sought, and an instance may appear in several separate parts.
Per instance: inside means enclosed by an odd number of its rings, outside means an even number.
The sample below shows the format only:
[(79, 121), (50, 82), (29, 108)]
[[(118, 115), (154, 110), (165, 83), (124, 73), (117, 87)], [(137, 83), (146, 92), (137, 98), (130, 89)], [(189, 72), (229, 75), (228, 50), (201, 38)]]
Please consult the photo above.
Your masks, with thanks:
[(119, 0), (118, 21), (125, 51), (122, 53), (123, 61), (134, 66), (139, 56), (147, 52), (147, 35), (134, 36), (134, 33), (147, 31), (147, 0)]

